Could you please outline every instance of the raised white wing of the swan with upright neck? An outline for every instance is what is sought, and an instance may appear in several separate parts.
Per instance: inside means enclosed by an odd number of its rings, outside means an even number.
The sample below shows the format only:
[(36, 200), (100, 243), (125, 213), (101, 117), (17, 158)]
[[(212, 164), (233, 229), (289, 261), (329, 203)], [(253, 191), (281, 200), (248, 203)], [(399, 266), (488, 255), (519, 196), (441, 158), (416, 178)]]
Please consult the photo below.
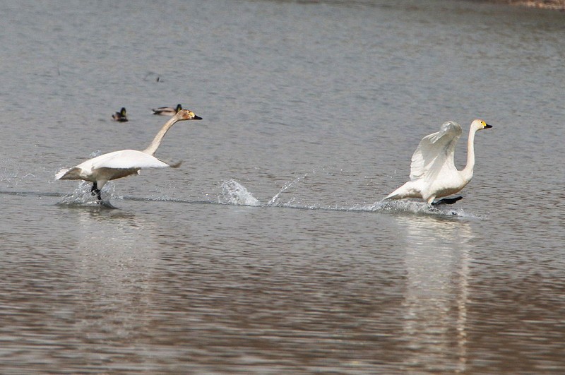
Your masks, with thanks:
[(427, 177), (429, 173), (436, 176), (444, 167), (454, 169), (453, 155), (460, 136), (461, 126), (448, 121), (437, 133), (422, 138), (412, 155), (410, 179)]

